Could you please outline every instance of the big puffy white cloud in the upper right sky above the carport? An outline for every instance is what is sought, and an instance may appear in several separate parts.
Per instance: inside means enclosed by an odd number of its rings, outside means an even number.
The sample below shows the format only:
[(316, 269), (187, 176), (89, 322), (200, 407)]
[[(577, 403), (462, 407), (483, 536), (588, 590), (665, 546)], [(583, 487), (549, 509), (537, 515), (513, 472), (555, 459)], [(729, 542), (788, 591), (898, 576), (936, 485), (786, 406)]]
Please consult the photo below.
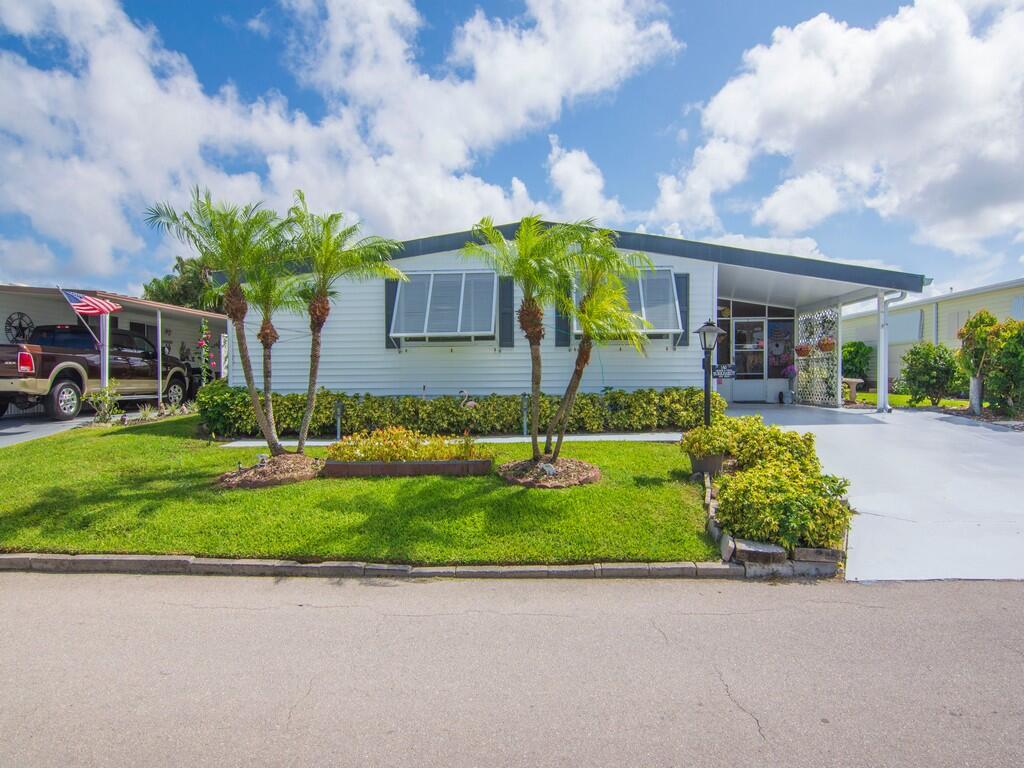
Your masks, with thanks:
[(779, 231), (868, 206), (961, 252), (1019, 234), (1022, 39), (1017, 0), (919, 0), (872, 29), (826, 14), (778, 28), (703, 109), (706, 141), (681, 175), (660, 180), (652, 217), (715, 227), (714, 197), (755, 158), (781, 156), (794, 178), (756, 214)]

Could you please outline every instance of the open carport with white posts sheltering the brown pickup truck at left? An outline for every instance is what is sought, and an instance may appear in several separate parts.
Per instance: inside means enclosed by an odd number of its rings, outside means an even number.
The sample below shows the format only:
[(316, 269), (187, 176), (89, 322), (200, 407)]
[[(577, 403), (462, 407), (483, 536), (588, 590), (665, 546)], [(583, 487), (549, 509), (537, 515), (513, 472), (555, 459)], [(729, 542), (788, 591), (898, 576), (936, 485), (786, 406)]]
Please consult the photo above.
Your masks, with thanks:
[[(124, 399), (160, 399), (166, 386), (169, 371), (164, 365), (165, 355), (181, 359), (193, 378), (200, 370), (200, 351), (197, 341), (200, 329), (206, 321), (210, 333), (210, 347), (216, 361), (216, 375), (223, 370), (221, 357), (221, 337), (226, 333), (227, 321), (222, 314), (188, 307), (164, 304), (133, 296), (124, 296), (111, 291), (67, 289), (84, 296), (114, 302), (122, 308), (111, 315), (79, 317), (57, 288), (32, 286), (0, 286), (0, 319), (4, 323), (3, 343), (24, 342), (35, 328), (40, 326), (85, 325), (99, 340), (104, 338), (117, 342), (122, 335), (131, 332), (148, 340), (152, 354), (146, 350), (134, 350), (144, 354), (148, 360), (147, 370), (152, 376), (139, 376), (137, 366), (126, 362), (117, 354), (99, 354), (100, 375), (98, 378), (82, 382), (83, 390), (101, 387), (113, 376), (122, 380)], [(154, 365), (155, 364), (155, 365)], [(162, 385), (158, 386), (158, 382)], [(191, 383), (191, 382), (189, 382)], [(20, 412), (25, 415), (25, 412)]]

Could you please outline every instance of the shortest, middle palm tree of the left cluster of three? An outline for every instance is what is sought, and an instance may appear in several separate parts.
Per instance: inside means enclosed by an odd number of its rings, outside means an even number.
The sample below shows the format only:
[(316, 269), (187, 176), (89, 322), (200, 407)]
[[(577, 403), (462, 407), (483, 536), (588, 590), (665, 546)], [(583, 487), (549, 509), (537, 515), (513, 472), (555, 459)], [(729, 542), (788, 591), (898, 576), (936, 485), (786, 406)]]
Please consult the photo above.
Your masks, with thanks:
[(249, 305), (256, 307), (260, 315), (260, 327), (256, 338), (263, 347), (263, 411), (271, 435), (267, 444), (273, 456), (285, 453), (278, 435), (278, 424), (273, 418), (271, 385), (273, 367), (270, 350), (280, 338), (278, 329), (273, 326), (273, 315), (281, 310), (299, 311), (302, 306), (287, 258), (284, 246), (281, 246), (275, 253), (267, 253), (249, 268), (246, 282), (242, 286)]

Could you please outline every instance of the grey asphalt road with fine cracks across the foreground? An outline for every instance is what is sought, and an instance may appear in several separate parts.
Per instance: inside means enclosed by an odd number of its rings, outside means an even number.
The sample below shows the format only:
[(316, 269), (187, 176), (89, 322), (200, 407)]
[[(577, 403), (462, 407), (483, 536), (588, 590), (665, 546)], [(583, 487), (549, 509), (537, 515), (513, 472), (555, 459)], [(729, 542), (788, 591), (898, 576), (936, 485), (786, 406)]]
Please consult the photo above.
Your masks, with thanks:
[(0, 764), (1020, 766), (1024, 584), (0, 573)]

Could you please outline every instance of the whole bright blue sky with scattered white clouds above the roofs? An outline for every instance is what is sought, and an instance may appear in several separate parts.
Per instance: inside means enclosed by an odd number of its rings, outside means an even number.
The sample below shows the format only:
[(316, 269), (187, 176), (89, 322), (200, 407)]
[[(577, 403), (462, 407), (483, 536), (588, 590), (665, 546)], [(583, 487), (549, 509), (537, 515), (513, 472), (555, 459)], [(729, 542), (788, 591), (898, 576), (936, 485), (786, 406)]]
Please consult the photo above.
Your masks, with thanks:
[(1008, 280), (1022, 33), (1015, 0), (0, 2), (0, 281), (138, 291), (184, 253), (145, 206), (197, 183)]

